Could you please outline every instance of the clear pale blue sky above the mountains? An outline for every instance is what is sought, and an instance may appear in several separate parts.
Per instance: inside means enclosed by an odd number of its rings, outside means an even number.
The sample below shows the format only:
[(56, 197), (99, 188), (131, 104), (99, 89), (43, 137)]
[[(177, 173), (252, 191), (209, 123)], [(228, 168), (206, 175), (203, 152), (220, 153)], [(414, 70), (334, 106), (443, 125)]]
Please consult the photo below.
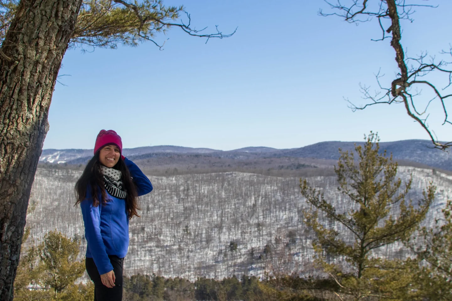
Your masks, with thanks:
[[(425, 1), (423, 1), (425, 2)], [(431, 0), (414, 23), (403, 22), (410, 55), (438, 54), (452, 42), (452, 1)], [(390, 40), (375, 22), (359, 26), (320, 17), (322, 0), (166, 0), (191, 14), (196, 28), (237, 32), (226, 39), (190, 37), (178, 28), (164, 50), (152, 43), (116, 50), (69, 50), (49, 113), (44, 148), (93, 148), (101, 129), (116, 130), (125, 148), (178, 145), (222, 150), (297, 148), (321, 141), (428, 139), (402, 105), (352, 112), (344, 97), (365, 104), (359, 83), (376, 86), (396, 72)], [(452, 58), (449, 57), (450, 60)], [(443, 81), (444, 82), (444, 81)], [(431, 124), (441, 118), (430, 107)], [(452, 140), (451, 126), (435, 127)]]

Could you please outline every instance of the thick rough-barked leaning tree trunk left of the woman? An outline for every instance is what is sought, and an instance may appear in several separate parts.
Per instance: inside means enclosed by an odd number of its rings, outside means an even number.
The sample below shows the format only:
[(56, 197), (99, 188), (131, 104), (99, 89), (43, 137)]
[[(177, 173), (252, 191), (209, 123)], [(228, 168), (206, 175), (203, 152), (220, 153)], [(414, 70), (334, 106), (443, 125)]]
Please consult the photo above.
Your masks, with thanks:
[(0, 300), (13, 299), (47, 114), (81, 0), (21, 0), (0, 52)]

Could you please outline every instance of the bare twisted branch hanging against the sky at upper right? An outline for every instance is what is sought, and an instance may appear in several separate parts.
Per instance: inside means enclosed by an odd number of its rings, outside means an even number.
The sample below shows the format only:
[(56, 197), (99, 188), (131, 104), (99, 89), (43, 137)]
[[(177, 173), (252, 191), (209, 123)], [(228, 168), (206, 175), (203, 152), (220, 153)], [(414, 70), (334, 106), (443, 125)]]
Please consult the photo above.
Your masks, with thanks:
[[(437, 60), (435, 56), (430, 56), (427, 52), (420, 52), (416, 57), (408, 56), (406, 48), (401, 43), (400, 20), (413, 22), (412, 14), (415, 12), (415, 8), (435, 7), (424, 4), (426, 1), (429, 0), (346, 0), (347, 5), (343, 5), (344, 1), (325, 0), (333, 12), (327, 13), (320, 10), (319, 14), (321, 16), (339, 16), (348, 23), (361, 23), (377, 19), (381, 28), (381, 37), (373, 41), (391, 39), (391, 47), (395, 51), (395, 61), (399, 69), (396, 78), (392, 80), (391, 86), (385, 87), (380, 82), (383, 75), (379, 71), (376, 74), (378, 89), (375, 92), (372, 92), (369, 86), (360, 84), (360, 91), (368, 103), (364, 106), (355, 106), (349, 102), (352, 110), (362, 110), (368, 106), (382, 103), (403, 103), (408, 115), (427, 132), (434, 147), (445, 150), (452, 146), (452, 141), (440, 142), (434, 130), (428, 126), (427, 119), (429, 105), (432, 102), (440, 102), (443, 111), (443, 125), (452, 125), (448, 119), (445, 105), (445, 101), (449, 97), (452, 98), (451, 89), (449, 89), (452, 84), (452, 69), (448, 68), (452, 61)], [(452, 46), (449, 44), (449, 49), (442, 50), (439, 54), (442, 57), (447, 56), (450, 60)], [(441, 87), (438, 79), (433, 81), (433, 74), (443, 75), (447, 83)], [(428, 99), (420, 97), (423, 88), (429, 95)]]

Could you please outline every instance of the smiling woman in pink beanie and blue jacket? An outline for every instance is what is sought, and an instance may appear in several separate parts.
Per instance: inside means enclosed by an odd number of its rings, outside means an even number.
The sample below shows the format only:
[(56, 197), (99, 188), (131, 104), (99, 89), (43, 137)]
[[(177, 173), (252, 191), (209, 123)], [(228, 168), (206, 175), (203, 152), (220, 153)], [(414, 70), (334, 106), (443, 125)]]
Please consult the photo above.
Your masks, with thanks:
[(75, 184), (85, 222), (86, 271), (94, 282), (94, 301), (122, 300), (122, 262), (129, 246), (129, 219), (139, 217), (138, 196), (152, 190), (149, 179), (122, 156), (121, 137), (101, 130)]

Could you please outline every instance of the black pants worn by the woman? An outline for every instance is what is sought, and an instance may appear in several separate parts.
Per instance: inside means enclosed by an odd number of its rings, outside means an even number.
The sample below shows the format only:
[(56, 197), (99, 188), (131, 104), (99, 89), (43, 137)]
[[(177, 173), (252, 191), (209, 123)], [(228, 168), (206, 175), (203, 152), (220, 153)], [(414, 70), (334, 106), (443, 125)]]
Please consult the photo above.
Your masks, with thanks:
[(122, 301), (122, 263), (124, 258), (116, 255), (108, 255), (113, 265), (115, 276), (115, 286), (113, 288), (106, 287), (100, 279), (99, 271), (92, 258), (86, 257), (85, 266), (89, 278), (94, 282), (94, 301)]

